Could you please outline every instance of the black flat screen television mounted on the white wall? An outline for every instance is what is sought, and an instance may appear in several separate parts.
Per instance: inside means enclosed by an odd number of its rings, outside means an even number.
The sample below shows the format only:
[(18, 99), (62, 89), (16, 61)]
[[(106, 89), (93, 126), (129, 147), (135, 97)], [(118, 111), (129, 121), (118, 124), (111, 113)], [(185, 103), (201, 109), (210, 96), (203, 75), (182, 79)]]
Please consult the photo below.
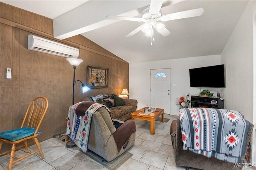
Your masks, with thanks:
[(224, 64), (189, 69), (190, 87), (225, 88)]

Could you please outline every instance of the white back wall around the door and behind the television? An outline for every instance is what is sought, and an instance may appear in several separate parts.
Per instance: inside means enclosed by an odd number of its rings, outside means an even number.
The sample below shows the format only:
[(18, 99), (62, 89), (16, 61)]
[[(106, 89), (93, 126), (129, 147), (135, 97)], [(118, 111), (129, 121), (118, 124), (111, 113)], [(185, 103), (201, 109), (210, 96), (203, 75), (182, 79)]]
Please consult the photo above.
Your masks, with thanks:
[[(179, 107), (176, 105), (177, 98), (186, 96), (188, 93), (190, 93), (190, 95), (198, 95), (200, 93), (200, 88), (190, 87), (189, 69), (222, 64), (220, 62), (220, 57), (220, 55), (210, 55), (130, 63), (129, 98), (138, 100), (138, 109), (146, 107), (146, 105), (150, 103), (150, 69), (171, 68), (171, 114), (178, 115)], [(175, 86), (172, 86), (172, 84), (175, 84)], [(205, 89), (210, 90), (210, 92), (214, 93), (214, 96), (217, 96), (216, 88)], [(204, 90), (204, 88), (201, 88), (201, 90)], [(223, 89), (218, 89), (218, 91), (221, 90)]]

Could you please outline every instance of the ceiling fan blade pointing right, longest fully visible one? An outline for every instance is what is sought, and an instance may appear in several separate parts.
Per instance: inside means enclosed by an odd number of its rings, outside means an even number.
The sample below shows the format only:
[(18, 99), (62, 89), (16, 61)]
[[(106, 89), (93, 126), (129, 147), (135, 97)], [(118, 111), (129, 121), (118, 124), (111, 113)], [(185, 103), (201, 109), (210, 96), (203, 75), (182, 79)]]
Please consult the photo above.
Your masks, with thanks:
[(182, 18), (190, 18), (190, 17), (200, 16), (203, 13), (204, 13), (204, 8), (197, 8), (194, 10), (187, 10), (187, 11), (163, 15), (163, 16), (161, 16), (160, 20), (161, 21), (178, 20), (178, 19), (182, 19)]

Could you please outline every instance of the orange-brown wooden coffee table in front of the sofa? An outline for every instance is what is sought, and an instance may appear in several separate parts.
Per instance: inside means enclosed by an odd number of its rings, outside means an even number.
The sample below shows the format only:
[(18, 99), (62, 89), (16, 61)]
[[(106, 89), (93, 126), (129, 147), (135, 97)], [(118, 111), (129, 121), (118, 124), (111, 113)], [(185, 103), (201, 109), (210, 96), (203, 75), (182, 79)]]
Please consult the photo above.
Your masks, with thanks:
[[(146, 110), (148, 110), (148, 107), (144, 107)], [(160, 115), (162, 115), (162, 122), (164, 123), (164, 109), (158, 109), (154, 110), (152, 113), (155, 113), (154, 116), (150, 115), (140, 115), (140, 110), (134, 111), (132, 115), (132, 120), (135, 119), (142, 119), (142, 120), (147, 120), (150, 121), (150, 134), (154, 135), (155, 134), (155, 120), (158, 118)]]

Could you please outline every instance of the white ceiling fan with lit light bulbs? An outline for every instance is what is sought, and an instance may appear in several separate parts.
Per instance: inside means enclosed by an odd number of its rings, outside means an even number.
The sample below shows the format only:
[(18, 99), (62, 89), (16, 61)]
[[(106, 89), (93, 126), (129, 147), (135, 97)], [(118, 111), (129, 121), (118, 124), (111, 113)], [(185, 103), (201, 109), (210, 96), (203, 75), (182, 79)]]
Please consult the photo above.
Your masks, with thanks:
[(196, 16), (201, 16), (204, 13), (204, 8), (197, 8), (193, 10), (161, 15), (160, 9), (162, 7), (163, 2), (164, 0), (151, 0), (150, 6), (148, 6), (148, 8), (142, 11), (141, 18), (106, 16), (106, 19), (144, 22), (144, 24), (134, 29), (125, 37), (131, 37), (132, 35), (138, 33), (140, 30), (146, 33), (146, 36), (152, 37), (154, 35), (154, 29), (158, 31), (161, 35), (166, 37), (170, 34), (170, 31), (168, 31), (168, 29), (164, 27), (164, 24), (162, 22), (158, 22), (158, 21), (164, 22), (164, 21), (170, 21), (170, 20), (178, 20), (182, 18), (196, 17)]

